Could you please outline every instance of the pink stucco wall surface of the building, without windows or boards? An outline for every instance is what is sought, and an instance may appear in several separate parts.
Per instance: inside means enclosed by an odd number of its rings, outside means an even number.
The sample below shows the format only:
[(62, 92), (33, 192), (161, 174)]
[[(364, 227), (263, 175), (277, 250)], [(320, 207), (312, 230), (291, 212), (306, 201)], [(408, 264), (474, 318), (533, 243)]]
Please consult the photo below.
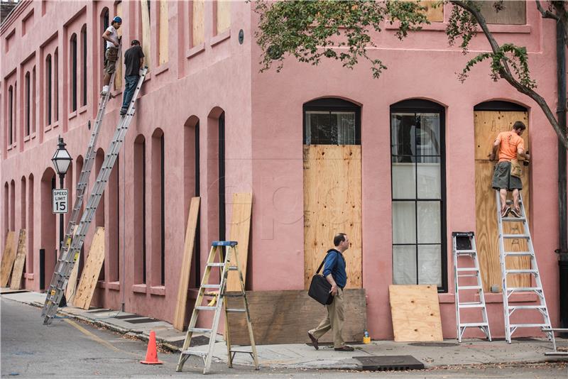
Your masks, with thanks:
[[(153, 30), (158, 29), (157, 1), (151, 1)], [(26, 288), (39, 290), (38, 249), (48, 250), (46, 282), (53, 273), (53, 251), (58, 223), (51, 214), (50, 158), (62, 134), (73, 158), (84, 155), (90, 136), (87, 122), (97, 111), (102, 80), (100, 37), (102, 9), (114, 15), (114, 1), (40, 2), (20, 4), (0, 28), (1, 46), (1, 229), (26, 227), (31, 246), (26, 267)], [(124, 1), (124, 41), (141, 39), (138, 1)], [(204, 45), (190, 48), (189, 6), (169, 3), (168, 63), (156, 67), (157, 33), (152, 33), (151, 73), (137, 103), (119, 158), (119, 174), (105, 193), (104, 210), (97, 224), (106, 226), (105, 280), (99, 282), (94, 302), (127, 312), (171, 321), (178, 292), (178, 275), (189, 199), (193, 188), (192, 136), (200, 123), (201, 252), (204, 262), (210, 241), (217, 239), (217, 119), (226, 120), (227, 220), (234, 192), (253, 192), (253, 219), (248, 286), (253, 290), (290, 290), (303, 287), (303, 177), (302, 104), (320, 97), (340, 97), (361, 105), (363, 188), (363, 285), (366, 289), (368, 329), (376, 339), (391, 339), (388, 285), (392, 283), (391, 157), (389, 106), (403, 99), (430, 99), (446, 109), (447, 254), (449, 292), (440, 294), (444, 337), (455, 336), (451, 231), (475, 230), (474, 117), (483, 101), (501, 99), (529, 109), (532, 145), (532, 233), (552, 323), (557, 323), (556, 138), (537, 105), (504, 82), (494, 83), (487, 65), (476, 67), (464, 83), (458, 82), (466, 62), (457, 48), (448, 48), (444, 25), (427, 26), (400, 43), (392, 28), (376, 35), (378, 48), (370, 51), (389, 67), (372, 79), (365, 62), (346, 70), (337, 62), (317, 67), (285, 62), (282, 72), (258, 72), (258, 46), (253, 43), (256, 15), (250, 4), (231, 4), (230, 33), (214, 35), (213, 2), (205, 5)], [(33, 12), (33, 16), (30, 16)], [(449, 8), (445, 9), (445, 20)], [(26, 22), (23, 20), (26, 19)], [(87, 106), (70, 111), (69, 40), (87, 25)], [(25, 25), (25, 27), (23, 26)], [(22, 35), (23, 29), (26, 30)], [(239, 30), (244, 43), (239, 44)], [(96, 33), (93, 33), (96, 30)], [(527, 6), (527, 25), (493, 26), (499, 42), (515, 41), (530, 53), (538, 90), (555, 106), (555, 26), (542, 21), (534, 4)], [(10, 38), (8, 38), (10, 37)], [(81, 44), (79, 43), (79, 47)], [(45, 57), (59, 57), (59, 120), (45, 121)], [(484, 38), (472, 50), (486, 50)], [(81, 55), (80, 55), (81, 56)], [(35, 133), (24, 136), (23, 78), (37, 75)], [(7, 136), (9, 86), (17, 82), (16, 143)], [(81, 91), (81, 82), (79, 85)], [(106, 150), (118, 120), (120, 92), (111, 100), (99, 136)], [(165, 285), (160, 285), (159, 162), (155, 137), (165, 138)], [(143, 137), (141, 137), (143, 136)], [(135, 163), (137, 142), (146, 141), (146, 285), (141, 284), (140, 167)], [(139, 150), (138, 150), (139, 151)], [(73, 167), (66, 187), (77, 180)], [(136, 171), (138, 170), (138, 171)], [(136, 172), (136, 175), (135, 175)], [(25, 181), (22, 180), (24, 177)], [(12, 187), (11, 181), (14, 181)], [(116, 182), (116, 180), (118, 182)], [(23, 192), (23, 184), (26, 191)], [(94, 173), (90, 183), (94, 183)], [(158, 185), (156, 185), (158, 183)], [(90, 190), (90, 189), (89, 189)], [(27, 196), (22, 196), (26, 193)], [(33, 203), (31, 203), (33, 202)], [(27, 204), (23, 206), (23, 204)], [(116, 207), (119, 215), (116, 214)], [(156, 221), (158, 220), (158, 221)], [(116, 229), (118, 225), (118, 229)], [(86, 251), (94, 233), (92, 227)], [(117, 245), (116, 238), (119, 238)], [(123, 255), (124, 253), (124, 255)], [(349, 256), (349, 253), (348, 253)], [(111, 264), (110, 264), (111, 263)], [(117, 267), (118, 266), (118, 267)], [(192, 280), (191, 282), (195, 282)], [(501, 295), (487, 294), (493, 336), (503, 335)], [(532, 297), (518, 300), (534, 300)], [(531, 334), (530, 331), (525, 334)], [(523, 334), (518, 334), (523, 335)]]

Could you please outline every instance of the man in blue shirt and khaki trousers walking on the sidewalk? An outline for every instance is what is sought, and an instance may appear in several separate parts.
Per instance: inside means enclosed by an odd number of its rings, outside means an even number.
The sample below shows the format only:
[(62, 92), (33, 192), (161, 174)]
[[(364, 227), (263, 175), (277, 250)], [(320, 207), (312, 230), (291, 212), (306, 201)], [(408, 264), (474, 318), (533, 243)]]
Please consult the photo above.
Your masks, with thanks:
[(347, 273), (345, 271), (344, 251), (349, 248), (349, 238), (344, 233), (339, 233), (333, 238), (334, 249), (329, 251), (324, 263), (324, 277), (327, 279), (333, 295), (332, 304), (326, 305), (327, 317), (320, 322), (316, 329), (307, 332), (312, 340), (314, 348), (319, 350), (317, 340), (320, 339), (329, 329), (333, 333), (333, 346), (335, 351), (353, 351), (353, 347), (347, 346), (342, 338), (344, 315), (343, 289), (347, 284)]

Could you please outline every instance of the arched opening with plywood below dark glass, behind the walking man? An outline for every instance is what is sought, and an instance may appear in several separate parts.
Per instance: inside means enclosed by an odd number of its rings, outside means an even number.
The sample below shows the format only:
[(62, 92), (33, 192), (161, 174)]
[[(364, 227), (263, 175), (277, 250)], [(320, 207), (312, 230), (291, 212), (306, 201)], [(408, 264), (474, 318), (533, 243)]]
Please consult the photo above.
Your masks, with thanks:
[(341, 99), (304, 105), (304, 284), (333, 247), (349, 236), (348, 288), (362, 287), (361, 132), (359, 106)]

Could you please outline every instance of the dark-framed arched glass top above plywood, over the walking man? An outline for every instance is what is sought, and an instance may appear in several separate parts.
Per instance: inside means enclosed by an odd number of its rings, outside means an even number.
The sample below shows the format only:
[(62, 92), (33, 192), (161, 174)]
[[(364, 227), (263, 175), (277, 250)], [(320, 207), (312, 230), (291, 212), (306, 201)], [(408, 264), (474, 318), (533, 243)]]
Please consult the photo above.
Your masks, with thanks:
[(360, 145), (361, 108), (324, 98), (304, 104), (304, 145)]

